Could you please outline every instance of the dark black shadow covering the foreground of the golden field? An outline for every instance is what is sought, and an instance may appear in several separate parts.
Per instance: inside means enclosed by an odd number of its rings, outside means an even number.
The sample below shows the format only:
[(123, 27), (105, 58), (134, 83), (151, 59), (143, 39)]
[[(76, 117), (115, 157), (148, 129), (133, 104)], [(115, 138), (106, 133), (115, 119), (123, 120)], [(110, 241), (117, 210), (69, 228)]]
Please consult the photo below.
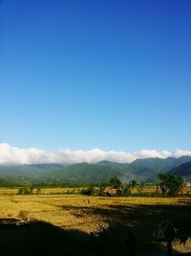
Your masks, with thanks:
[[(1, 219), (0, 255), (167, 255), (166, 247), (159, 244), (166, 221), (171, 221), (176, 227), (181, 242), (191, 237), (191, 205), (180, 202), (182, 204), (179, 206), (62, 206), (63, 209), (72, 210), (74, 215), (85, 212), (107, 220), (109, 228), (100, 228), (91, 235), (78, 230), (64, 230), (44, 221)], [(175, 250), (173, 253), (179, 255)]]

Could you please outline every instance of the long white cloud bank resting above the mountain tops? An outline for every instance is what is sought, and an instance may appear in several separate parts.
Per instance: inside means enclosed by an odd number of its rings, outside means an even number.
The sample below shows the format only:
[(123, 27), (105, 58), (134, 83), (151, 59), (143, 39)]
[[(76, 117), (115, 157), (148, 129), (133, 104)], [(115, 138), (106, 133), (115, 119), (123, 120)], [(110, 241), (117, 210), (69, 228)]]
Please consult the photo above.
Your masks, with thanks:
[(102, 151), (94, 149), (91, 151), (44, 151), (34, 148), (23, 149), (11, 147), (7, 143), (0, 144), (0, 164), (43, 164), (43, 163), (59, 163), (59, 164), (74, 164), (74, 163), (96, 163), (101, 160), (108, 160), (120, 163), (129, 163), (138, 158), (159, 157), (166, 158), (169, 156), (180, 157), (182, 155), (191, 155), (191, 151), (176, 150), (156, 151), (142, 150), (137, 152), (125, 151)]

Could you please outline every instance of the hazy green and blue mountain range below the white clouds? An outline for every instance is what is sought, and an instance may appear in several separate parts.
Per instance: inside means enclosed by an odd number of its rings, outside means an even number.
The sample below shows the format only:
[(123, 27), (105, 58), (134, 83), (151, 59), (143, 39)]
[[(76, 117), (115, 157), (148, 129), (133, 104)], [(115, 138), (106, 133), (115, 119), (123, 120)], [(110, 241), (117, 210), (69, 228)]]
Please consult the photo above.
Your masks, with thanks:
[(131, 163), (99, 161), (96, 164), (78, 163), (69, 166), (59, 164), (0, 165), (0, 177), (31, 178), (43, 182), (90, 184), (107, 182), (117, 176), (123, 182), (137, 179), (155, 182), (159, 172), (170, 172), (191, 177), (191, 156), (137, 159)]

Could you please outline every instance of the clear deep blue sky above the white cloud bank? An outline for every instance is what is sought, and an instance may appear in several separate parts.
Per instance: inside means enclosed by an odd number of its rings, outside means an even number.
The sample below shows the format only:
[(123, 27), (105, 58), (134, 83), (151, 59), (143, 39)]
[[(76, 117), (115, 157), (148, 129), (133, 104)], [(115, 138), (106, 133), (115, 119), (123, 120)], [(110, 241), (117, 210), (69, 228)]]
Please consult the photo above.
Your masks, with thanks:
[(1, 0), (0, 142), (191, 149), (191, 1)]

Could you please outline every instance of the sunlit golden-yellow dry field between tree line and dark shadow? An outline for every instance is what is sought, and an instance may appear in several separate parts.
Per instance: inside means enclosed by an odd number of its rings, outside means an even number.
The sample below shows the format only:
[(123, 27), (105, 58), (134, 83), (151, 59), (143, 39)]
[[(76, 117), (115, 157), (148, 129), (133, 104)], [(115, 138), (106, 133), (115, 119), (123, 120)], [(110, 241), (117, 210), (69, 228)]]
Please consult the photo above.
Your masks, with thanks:
[[(186, 200), (189, 200), (191, 203), (191, 198), (186, 198)], [(117, 219), (117, 216), (109, 215), (110, 210), (113, 208), (137, 208), (140, 205), (175, 206), (180, 205), (180, 198), (98, 198), (77, 195), (8, 195), (0, 196), (0, 205), (0, 218), (21, 217), (48, 221), (67, 229), (80, 229), (90, 233), (96, 230), (100, 225), (107, 225), (110, 218)], [(108, 216), (103, 215), (101, 210), (108, 211)], [(98, 211), (100, 211), (100, 214)], [(118, 213), (119, 212), (118, 210)]]

